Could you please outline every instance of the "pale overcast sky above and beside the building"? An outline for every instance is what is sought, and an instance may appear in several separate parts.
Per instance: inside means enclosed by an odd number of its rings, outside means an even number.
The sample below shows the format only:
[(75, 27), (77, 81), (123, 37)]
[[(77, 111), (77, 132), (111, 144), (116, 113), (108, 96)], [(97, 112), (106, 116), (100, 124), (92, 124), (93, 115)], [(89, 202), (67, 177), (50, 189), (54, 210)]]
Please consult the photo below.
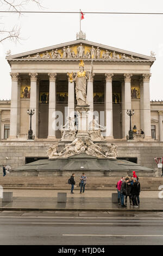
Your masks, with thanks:
[[(163, 13), (160, 0), (42, 0), (44, 11), (118, 11)], [(2, 9), (2, 7), (1, 7)], [(24, 10), (39, 10), (30, 4)], [(92, 42), (121, 48), (123, 50), (150, 55), (156, 53), (156, 61), (151, 68), (151, 99), (163, 100), (162, 58), (163, 58), (163, 15), (108, 15), (85, 14), (82, 31)], [(21, 26), (23, 40), (16, 45), (10, 41), (0, 44), (0, 99), (10, 99), (10, 66), (5, 53), (11, 54), (35, 50), (76, 39), (79, 31), (79, 14), (17, 14), (3, 15), (3, 26)]]

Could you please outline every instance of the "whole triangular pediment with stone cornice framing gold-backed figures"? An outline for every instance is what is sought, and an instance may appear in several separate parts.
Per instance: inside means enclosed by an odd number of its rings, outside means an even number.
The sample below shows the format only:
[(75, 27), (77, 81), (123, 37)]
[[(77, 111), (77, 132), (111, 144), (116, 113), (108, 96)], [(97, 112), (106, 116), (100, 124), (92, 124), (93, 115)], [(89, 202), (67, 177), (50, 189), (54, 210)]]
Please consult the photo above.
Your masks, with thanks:
[(154, 62), (155, 57), (121, 50), (95, 42), (78, 39), (59, 45), (40, 48), (34, 51), (24, 52), (8, 56), (7, 60), (33, 59), (33, 60), (73, 60), (73, 59), (97, 59), (119, 61), (148, 61)]

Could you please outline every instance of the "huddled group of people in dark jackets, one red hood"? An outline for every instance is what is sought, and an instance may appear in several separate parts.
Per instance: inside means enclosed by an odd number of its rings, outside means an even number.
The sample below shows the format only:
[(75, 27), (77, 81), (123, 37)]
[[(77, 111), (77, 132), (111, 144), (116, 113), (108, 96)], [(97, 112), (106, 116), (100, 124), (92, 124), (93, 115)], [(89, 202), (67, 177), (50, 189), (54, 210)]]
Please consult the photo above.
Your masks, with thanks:
[(130, 178), (122, 176), (117, 182), (118, 204), (122, 208), (127, 207), (127, 198), (129, 198), (130, 205), (139, 207), (140, 205), (140, 182), (138, 176), (133, 172)]

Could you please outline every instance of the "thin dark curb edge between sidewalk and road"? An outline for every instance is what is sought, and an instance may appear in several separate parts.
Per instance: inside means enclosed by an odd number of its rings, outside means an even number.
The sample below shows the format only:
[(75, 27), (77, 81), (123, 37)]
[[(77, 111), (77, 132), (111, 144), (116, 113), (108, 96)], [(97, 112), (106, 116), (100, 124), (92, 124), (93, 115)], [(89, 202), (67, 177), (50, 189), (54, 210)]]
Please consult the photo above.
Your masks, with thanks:
[(118, 211), (118, 212), (163, 212), (163, 209), (73, 209), (73, 208), (0, 208), (0, 211)]

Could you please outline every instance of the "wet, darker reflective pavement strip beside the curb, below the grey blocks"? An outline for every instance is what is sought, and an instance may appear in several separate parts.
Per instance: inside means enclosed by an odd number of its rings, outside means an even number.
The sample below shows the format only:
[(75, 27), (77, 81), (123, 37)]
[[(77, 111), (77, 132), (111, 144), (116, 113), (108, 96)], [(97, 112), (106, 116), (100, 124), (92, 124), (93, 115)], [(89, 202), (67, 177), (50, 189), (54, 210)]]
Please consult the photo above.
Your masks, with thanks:
[(112, 203), (111, 198), (69, 197), (66, 203), (58, 203), (57, 197), (13, 197), (12, 203), (2, 203), (0, 210), (35, 211), (160, 211), (163, 212), (163, 199), (141, 198), (139, 208)]

